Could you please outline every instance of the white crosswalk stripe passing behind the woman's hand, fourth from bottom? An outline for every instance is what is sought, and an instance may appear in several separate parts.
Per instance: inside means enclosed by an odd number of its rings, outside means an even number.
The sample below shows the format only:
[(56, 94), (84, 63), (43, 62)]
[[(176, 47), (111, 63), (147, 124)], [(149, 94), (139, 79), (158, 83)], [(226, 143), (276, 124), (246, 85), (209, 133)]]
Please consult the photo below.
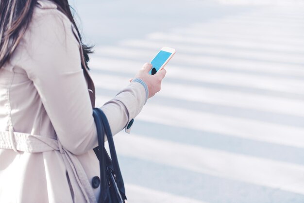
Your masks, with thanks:
[[(92, 74), (92, 78), (97, 87), (117, 91), (129, 83), (127, 77), (106, 74)], [(164, 81), (162, 91), (157, 95), (185, 101), (206, 102), (304, 117), (304, 103), (302, 101), (278, 99), (277, 97), (253, 93), (240, 93), (232, 90), (210, 89), (185, 84), (178, 85)]]

